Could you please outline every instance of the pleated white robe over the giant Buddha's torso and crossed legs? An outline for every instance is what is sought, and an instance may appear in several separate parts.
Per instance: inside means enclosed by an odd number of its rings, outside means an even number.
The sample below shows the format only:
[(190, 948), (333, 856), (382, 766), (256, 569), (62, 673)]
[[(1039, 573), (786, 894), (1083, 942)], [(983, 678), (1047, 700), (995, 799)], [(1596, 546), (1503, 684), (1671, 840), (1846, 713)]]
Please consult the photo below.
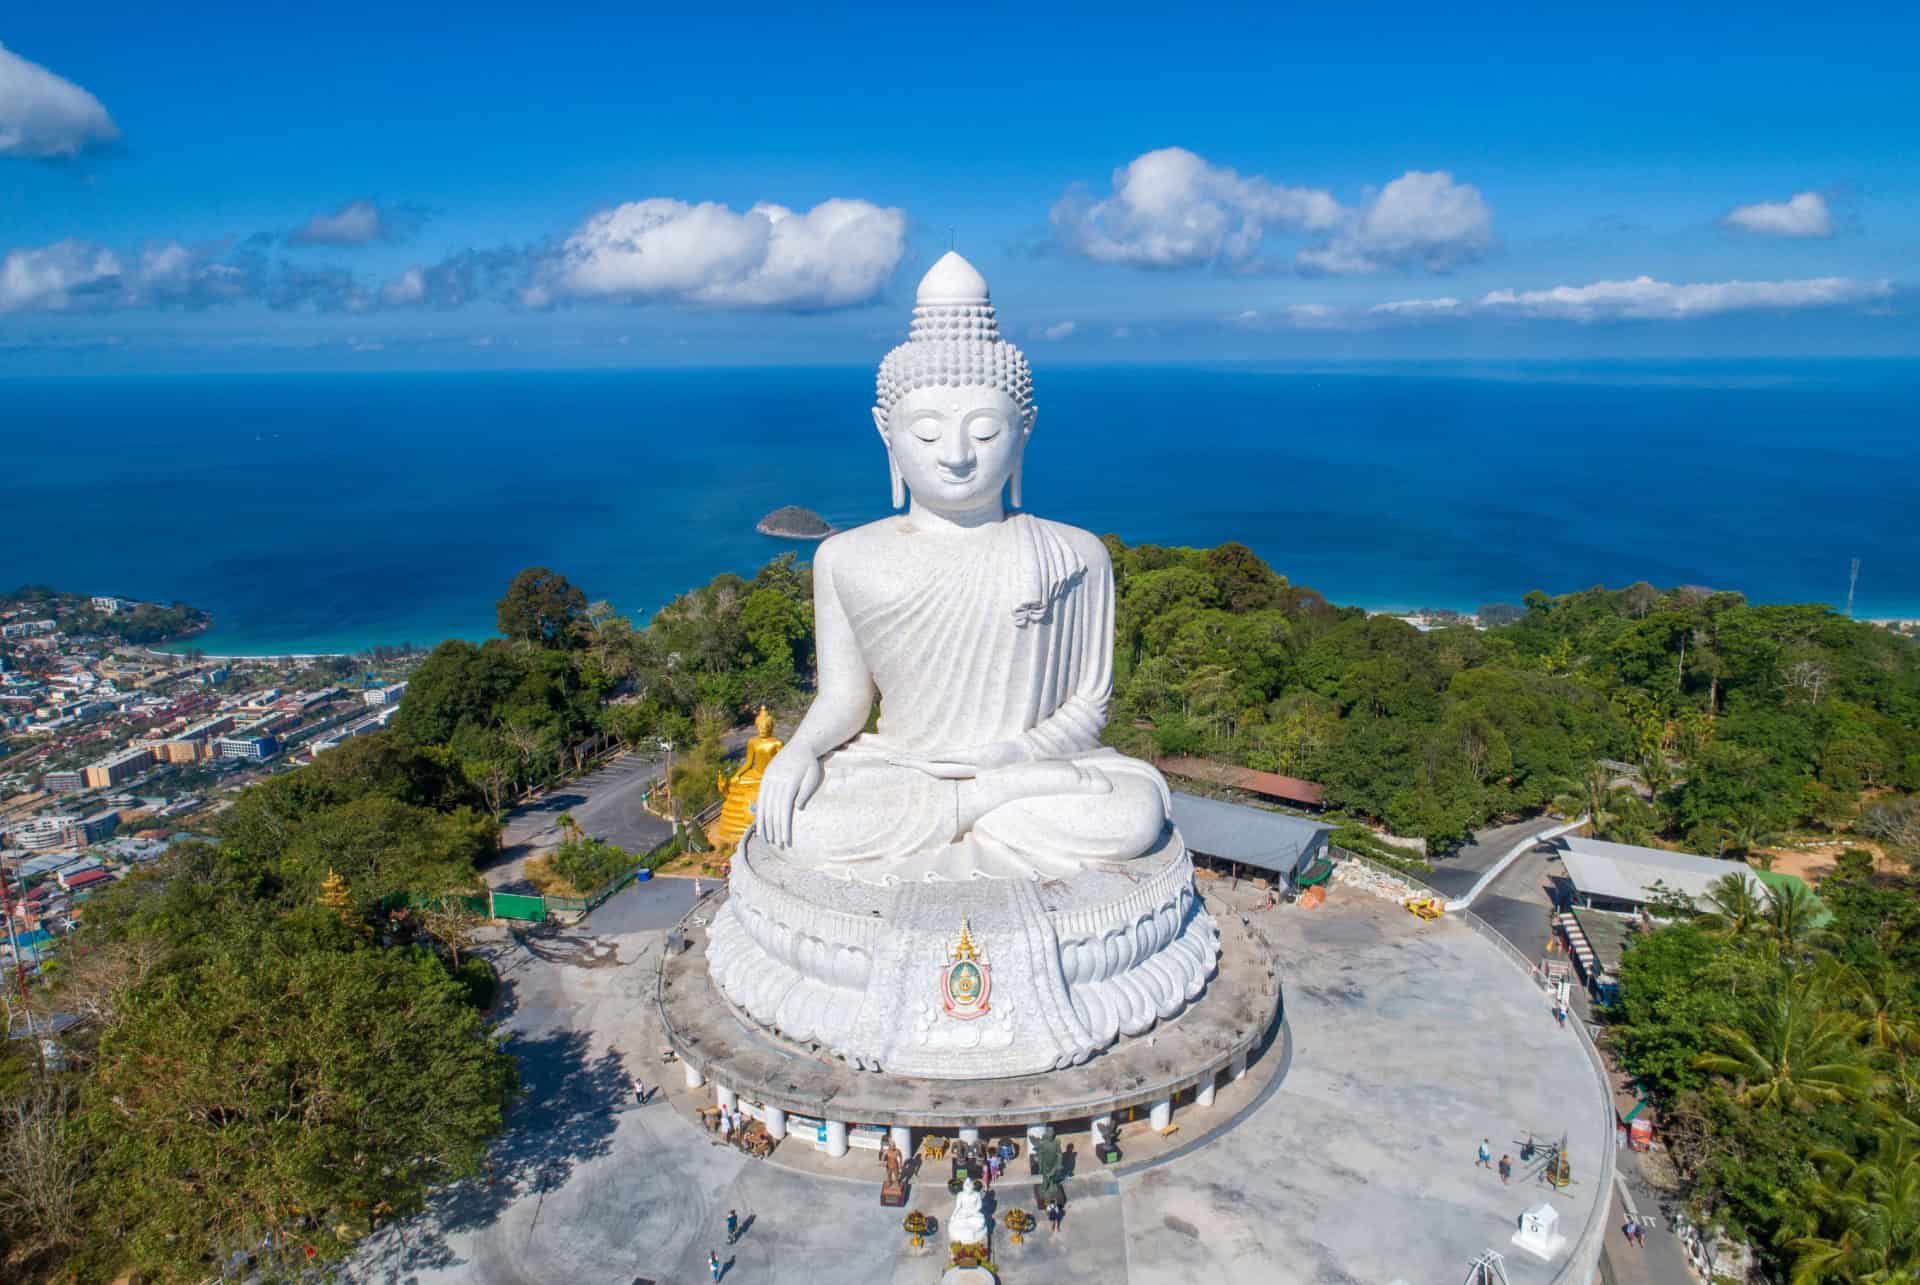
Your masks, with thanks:
[[(820, 789), (793, 816), (789, 861), (883, 880), (1039, 878), (1156, 845), (1169, 814), (1165, 782), (1100, 747), (1114, 686), (1114, 572), (1106, 557), (1083, 557), (1075, 536), (1091, 540), (1014, 515), (954, 540), (897, 534), (912, 542), (914, 561), (912, 578), (895, 576), (895, 588), (881, 588), (889, 576), (841, 570), (839, 609), (879, 688), (879, 724), (822, 759)], [(975, 782), (889, 761), (1002, 741), (1071, 770), (1056, 768), (1052, 788), (1043, 782), (972, 826), (962, 791)], [(993, 778), (983, 772), (977, 786)]]

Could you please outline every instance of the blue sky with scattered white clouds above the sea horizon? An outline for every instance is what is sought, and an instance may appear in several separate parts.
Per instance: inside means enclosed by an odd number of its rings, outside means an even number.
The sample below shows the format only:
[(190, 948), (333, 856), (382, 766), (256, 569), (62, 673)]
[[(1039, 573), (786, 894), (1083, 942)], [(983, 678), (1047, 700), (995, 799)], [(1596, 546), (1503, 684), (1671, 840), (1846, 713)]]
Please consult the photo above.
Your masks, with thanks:
[(13, 6), (0, 373), (1920, 352), (1914, 6), (1542, 8)]

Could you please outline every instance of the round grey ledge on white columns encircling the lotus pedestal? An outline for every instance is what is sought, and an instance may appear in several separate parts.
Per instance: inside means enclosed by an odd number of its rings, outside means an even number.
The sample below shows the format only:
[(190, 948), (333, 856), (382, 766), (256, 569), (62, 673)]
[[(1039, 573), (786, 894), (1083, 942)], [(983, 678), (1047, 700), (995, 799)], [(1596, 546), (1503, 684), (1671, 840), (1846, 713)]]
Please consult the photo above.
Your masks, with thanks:
[[(1185, 855), (1183, 855), (1185, 861)], [(1079, 1066), (1000, 1079), (935, 1079), (866, 1072), (820, 1047), (781, 1039), (739, 1012), (708, 972), (708, 922), (726, 922), (708, 903), (682, 922), (685, 949), (666, 951), (657, 974), (657, 1008), (687, 1081), (712, 1083), (722, 1104), (739, 1104), (783, 1137), (801, 1116), (829, 1154), (877, 1129), (1025, 1129), (1085, 1124), (1140, 1108), (1160, 1116), (1177, 1099), (1212, 1101), (1221, 1078), (1246, 1070), (1279, 1024), (1281, 987), (1273, 951), (1238, 914), (1219, 924), (1213, 982), (1179, 1016), (1125, 1039)], [(1210, 926), (1213, 920), (1208, 920)], [(862, 1126), (868, 1126), (862, 1129)]]

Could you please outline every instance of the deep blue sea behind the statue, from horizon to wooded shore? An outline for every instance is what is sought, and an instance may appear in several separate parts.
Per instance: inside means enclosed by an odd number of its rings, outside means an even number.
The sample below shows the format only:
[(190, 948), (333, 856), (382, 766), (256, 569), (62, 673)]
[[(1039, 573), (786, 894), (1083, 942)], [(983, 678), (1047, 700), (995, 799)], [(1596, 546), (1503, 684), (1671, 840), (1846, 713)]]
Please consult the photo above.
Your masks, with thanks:
[[(1649, 580), (1920, 617), (1920, 363), (1043, 367), (1027, 505), (1336, 603)], [(522, 567), (647, 617), (887, 509), (870, 367), (0, 380), (0, 582), (209, 653), (484, 638)]]

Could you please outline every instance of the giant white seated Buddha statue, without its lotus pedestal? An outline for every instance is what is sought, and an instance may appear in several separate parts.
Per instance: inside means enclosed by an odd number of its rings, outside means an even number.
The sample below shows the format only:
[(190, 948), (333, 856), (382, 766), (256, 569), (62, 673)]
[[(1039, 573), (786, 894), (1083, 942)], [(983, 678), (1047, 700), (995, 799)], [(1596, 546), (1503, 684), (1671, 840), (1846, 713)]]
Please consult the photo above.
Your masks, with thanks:
[(820, 688), (766, 768), (758, 837), (885, 882), (1060, 876), (1152, 851), (1165, 782), (1100, 745), (1112, 565), (1091, 532), (1018, 511), (1033, 376), (958, 254), (922, 279), (874, 423), (906, 513), (820, 546)]

